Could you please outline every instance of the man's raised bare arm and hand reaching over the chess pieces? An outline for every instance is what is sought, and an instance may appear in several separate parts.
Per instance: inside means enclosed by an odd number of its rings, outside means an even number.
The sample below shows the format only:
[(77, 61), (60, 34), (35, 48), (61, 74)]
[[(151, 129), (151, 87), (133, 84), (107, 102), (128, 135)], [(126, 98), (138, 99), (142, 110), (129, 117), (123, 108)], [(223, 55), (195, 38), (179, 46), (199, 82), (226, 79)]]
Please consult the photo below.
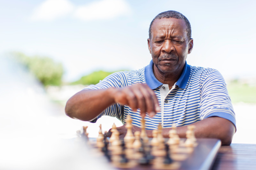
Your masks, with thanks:
[(82, 90), (67, 101), (65, 112), (71, 118), (91, 121), (115, 103), (127, 105), (133, 110), (140, 108), (142, 117), (146, 112), (154, 116), (160, 111), (154, 91), (146, 84), (134, 84), (124, 88)]

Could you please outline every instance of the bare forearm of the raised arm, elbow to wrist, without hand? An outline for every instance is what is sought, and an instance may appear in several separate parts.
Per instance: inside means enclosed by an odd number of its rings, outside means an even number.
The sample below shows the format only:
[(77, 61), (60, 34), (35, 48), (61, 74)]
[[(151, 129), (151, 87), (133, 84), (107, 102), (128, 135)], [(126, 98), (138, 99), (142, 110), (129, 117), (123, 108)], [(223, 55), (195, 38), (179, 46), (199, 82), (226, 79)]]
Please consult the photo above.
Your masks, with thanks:
[(65, 113), (71, 118), (90, 121), (115, 103), (113, 93), (114, 88), (77, 92), (67, 101)]

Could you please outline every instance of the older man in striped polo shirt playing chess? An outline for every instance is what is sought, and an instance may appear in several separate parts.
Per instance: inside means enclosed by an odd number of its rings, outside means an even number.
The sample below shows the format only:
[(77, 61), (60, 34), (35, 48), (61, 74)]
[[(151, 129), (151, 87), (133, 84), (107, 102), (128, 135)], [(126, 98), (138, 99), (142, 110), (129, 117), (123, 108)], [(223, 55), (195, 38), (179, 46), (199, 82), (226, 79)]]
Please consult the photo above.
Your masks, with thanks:
[[(173, 124), (186, 137), (186, 125), (194, 124), (196, 137), (219, 138), (229, 145), (236, 119), (226, 83), (215, 69), (187, 64), (193, 49), (188, 19), (177, 11), (158, 14), (149, 27), (148, 49), (148, 66), (116, 72), (84, 88), (67, 101), (66, 114), (90, 122), (109, 115), (123, 124), (131, 115), (133, 131), (140, 130), (145, 117), (149, 137), (159, 123), (164, 137)], [(125, 135), (124, 126), (117, 129)]]

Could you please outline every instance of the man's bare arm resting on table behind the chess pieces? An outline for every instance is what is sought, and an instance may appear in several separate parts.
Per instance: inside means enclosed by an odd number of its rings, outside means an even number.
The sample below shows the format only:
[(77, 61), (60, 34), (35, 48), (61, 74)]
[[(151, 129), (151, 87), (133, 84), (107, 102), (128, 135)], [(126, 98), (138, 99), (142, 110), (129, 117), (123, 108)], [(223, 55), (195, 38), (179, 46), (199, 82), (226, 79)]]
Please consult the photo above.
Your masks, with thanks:
[[(196, 138), (216, 138), (221, 140), (222, 145), (230, 145), (233, 135), (235, 134), (235, 126), (232, 122), (221, 117), (208, 117), (204, 120), (192, 123), (195, 125), (195, 136)], [(192, 125), (191, 124), (191, 125)], [(172, 128), (164, 128), (163, 136), (169, 138), (169, 131)], [(118, 127), (117, 130), (120, 133), (121, 137), (124, 137), (126, 134), (125, 125)], [(179, 126), (177, 127), (177, 133), (179, 137), (185, 138), (186, 131), (188, 126)], [(139, 127), (133, 126), (133, 133), (135, 131), (141, 131)], [(152, 130), (146, 130), (148, 137), (153, 137)], [(107, 133), (107, 136), (110, 137), (110, 130)]]

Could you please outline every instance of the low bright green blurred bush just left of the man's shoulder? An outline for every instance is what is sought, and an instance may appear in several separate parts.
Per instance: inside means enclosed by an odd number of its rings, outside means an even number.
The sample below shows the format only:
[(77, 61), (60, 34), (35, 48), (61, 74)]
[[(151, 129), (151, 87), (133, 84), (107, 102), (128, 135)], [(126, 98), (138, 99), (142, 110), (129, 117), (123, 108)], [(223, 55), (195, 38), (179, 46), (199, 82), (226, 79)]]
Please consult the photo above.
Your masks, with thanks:
[(106, 72), (106, 71), (94, 71), (87, 76), (83, 76), (80, 80), (73, 82), (72, 84), (83, 84), (83, 85), (96, 85), (103, 80), (108, 75), (112, 74), (113, 72)]

